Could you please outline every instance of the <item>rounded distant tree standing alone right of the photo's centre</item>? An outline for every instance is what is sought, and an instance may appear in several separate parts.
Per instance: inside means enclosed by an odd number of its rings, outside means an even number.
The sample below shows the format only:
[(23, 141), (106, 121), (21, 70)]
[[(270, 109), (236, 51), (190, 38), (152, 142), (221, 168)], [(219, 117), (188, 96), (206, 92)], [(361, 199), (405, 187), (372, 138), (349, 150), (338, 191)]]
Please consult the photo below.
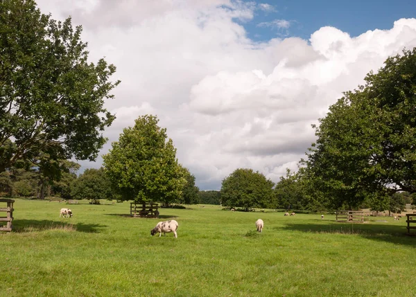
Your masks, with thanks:
[(272, 207), (275, 205), (273, 186), (275, 184), (258, 171), (239, 168), (223, 179), (223, 206), (239, 206), (246, 210), (252, 207)]

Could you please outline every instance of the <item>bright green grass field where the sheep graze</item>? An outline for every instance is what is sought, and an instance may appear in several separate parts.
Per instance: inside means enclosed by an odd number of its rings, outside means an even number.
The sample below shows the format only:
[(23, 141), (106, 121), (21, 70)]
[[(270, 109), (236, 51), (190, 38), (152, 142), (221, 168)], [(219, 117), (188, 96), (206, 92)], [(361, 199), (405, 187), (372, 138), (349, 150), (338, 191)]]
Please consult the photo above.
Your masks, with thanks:
[[(352, 225), (219, 206), (141, 219), (128, 202), (15, 200), (14, 231), (0, 233), (0, 296), (416, 296), (405, 219)], [(151, 237), (166, 219), (178, 238)]]

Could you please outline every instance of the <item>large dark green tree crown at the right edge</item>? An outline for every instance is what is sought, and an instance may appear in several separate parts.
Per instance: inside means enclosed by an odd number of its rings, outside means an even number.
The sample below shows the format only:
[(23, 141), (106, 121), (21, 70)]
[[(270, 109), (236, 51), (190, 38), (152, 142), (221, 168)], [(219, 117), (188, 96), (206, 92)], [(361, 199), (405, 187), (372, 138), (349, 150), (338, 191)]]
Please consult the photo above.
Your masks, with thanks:
[(415, 64), (416, 48), (389, 57), (314, 126), (318, 140), (302, 164), (334, 207), (416, 192)]

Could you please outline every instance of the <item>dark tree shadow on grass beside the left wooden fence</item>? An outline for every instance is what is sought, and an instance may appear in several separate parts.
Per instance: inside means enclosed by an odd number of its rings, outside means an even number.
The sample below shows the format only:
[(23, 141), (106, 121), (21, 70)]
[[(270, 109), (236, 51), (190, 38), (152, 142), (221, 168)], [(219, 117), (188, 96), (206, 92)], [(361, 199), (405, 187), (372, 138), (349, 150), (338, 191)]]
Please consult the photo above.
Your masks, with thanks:
[(107, 226), (101, 224), (72, 224), (71, 222), (52, 221), (50, 219), (15, 219), (13, 220), (12, 232), (30, 233), (35, 231), (62, 230), (85, 233), (100, 233), (101, 229), (105, 227)]

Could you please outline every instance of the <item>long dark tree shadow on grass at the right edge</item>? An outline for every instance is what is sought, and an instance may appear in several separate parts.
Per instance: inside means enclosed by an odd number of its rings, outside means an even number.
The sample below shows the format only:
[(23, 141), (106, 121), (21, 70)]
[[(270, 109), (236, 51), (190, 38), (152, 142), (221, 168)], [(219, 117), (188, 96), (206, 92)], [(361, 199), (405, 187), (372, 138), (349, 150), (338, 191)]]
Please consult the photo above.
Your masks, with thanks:
[(367, 222), (364, 224), (348, 224), (333, 221), (328, 224), (328, 221), (320, 222), (320, 219), (316, 219), (315, 224), (297, 224), (291, 222), (278, 229), (302, 231), (306, 233), (358, 235), (369, 240), (416, 246), (416, 231), (410, 231), (409, 236), (406, 226), (407, 225), (405, 224), (395, 223), (374, 224), (374, 222)]

